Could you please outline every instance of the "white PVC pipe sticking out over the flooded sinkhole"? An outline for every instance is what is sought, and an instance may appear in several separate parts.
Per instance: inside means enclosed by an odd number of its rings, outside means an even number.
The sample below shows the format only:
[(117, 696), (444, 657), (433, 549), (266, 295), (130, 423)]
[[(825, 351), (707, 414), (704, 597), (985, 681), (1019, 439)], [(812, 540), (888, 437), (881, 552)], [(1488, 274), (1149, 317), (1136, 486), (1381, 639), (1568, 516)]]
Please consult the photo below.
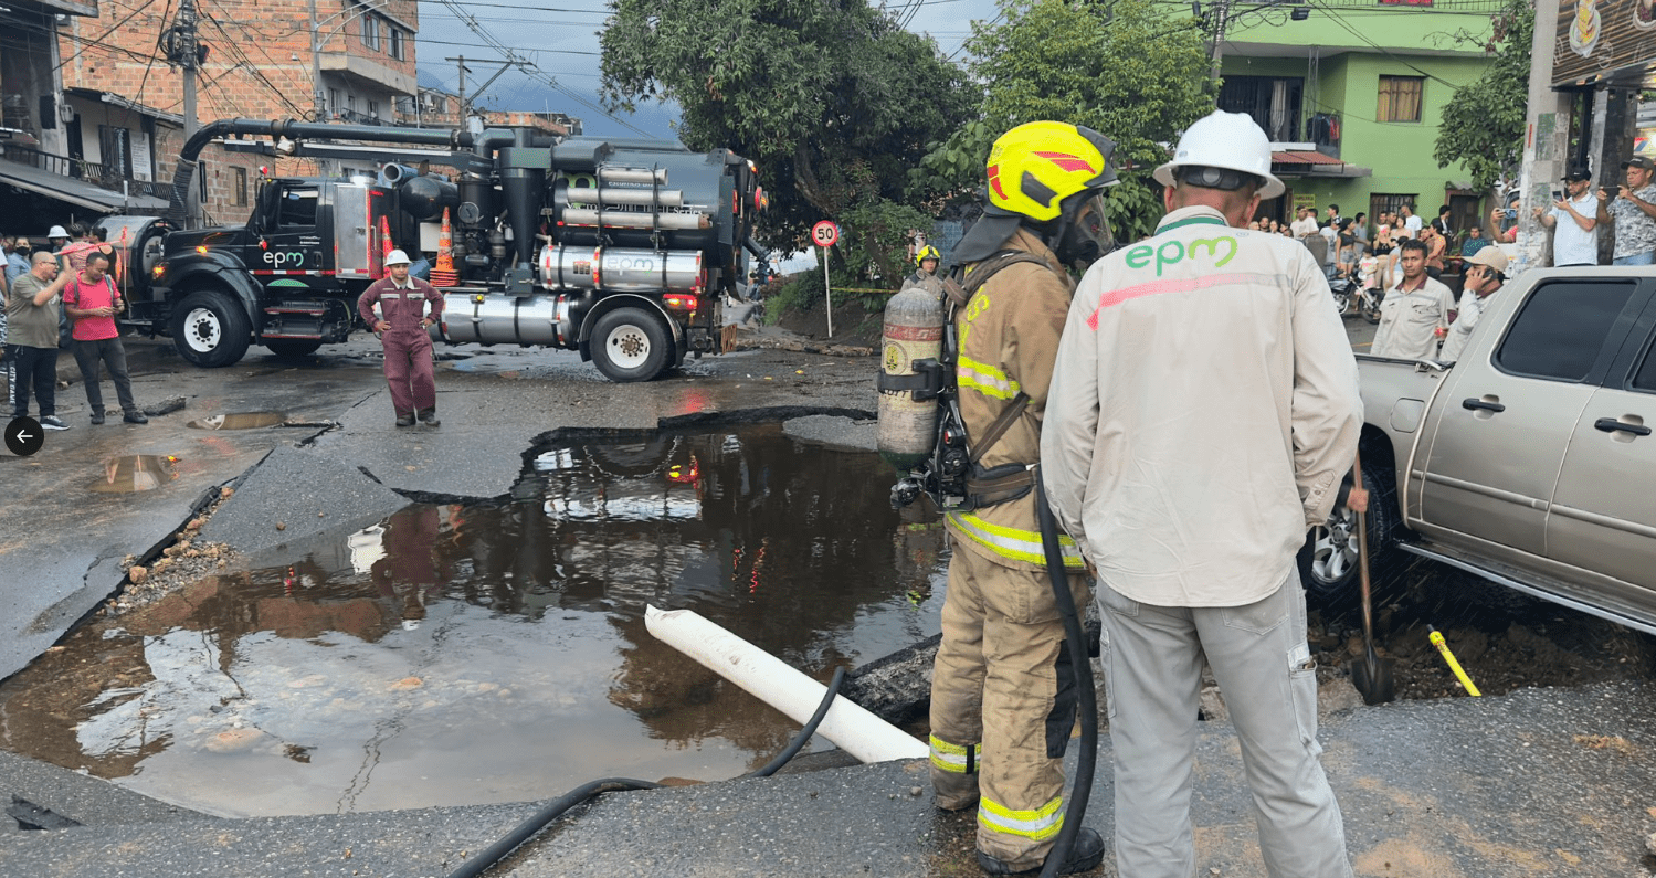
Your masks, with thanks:
[[(816, 712), (828, 687), (788, 668), (782, 659), (707, 621), (692, 610), (644, 608), (644, 626), (666, 644), (747, 689), (765, 704), (805, 724)], [(864, 711), (845, 696), (835, 696), (816, 734), (863, 762), (927, 759), (924, 742)]]

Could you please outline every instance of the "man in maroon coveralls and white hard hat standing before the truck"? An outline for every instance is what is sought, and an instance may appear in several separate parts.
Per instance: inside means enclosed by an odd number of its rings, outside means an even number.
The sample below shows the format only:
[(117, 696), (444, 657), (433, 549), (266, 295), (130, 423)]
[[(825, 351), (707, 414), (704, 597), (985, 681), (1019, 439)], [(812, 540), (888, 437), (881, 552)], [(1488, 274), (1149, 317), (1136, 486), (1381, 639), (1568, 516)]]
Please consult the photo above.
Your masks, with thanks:
[[(386, 346), (386, 381), (391, 384), (391, 404), (397, 409), (397, 426), (412, 427), (417, 414), (422, 424), (436, 427), (437, 379), (432, 376), (426, 328), (442, 318), (442, 293), (409, 277), (409, 257), (402, 250), (386, 253), (386, 272), (356, 300), (356, 311)], [(374, 315), (376, 302), (384, 316)]]

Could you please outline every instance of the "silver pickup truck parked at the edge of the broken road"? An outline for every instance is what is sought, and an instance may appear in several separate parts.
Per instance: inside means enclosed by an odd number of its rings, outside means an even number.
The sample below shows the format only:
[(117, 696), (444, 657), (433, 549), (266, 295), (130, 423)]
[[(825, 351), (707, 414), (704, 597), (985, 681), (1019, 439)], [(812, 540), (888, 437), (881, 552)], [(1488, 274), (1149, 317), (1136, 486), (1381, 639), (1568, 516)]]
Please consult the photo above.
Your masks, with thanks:
[[(1459, 363), (1358, 356), (1373, 572), (1408, 555), (1656, 633), (1656, 270), (1530, 270)], [(1300, 552), (1356, 576), (1343, 502)]]

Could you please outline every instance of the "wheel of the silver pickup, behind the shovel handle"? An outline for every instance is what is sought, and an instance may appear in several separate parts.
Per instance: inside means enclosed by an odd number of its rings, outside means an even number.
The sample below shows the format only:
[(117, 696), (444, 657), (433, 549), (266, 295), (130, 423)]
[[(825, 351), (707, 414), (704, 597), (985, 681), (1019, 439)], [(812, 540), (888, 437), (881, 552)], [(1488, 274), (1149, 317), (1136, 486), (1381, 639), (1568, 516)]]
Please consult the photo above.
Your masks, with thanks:
[[(1368, 487), (1368, 575), (1379, 586), (1396, 573), (1398, 482), (1378, 462), (1363, 459)], [(1295, 558), (1305, 591), (1325, 601), (1343, 601), (1358, 593), (1356, 512), (1340, 502), (1326, 525), (1313, 527)]]

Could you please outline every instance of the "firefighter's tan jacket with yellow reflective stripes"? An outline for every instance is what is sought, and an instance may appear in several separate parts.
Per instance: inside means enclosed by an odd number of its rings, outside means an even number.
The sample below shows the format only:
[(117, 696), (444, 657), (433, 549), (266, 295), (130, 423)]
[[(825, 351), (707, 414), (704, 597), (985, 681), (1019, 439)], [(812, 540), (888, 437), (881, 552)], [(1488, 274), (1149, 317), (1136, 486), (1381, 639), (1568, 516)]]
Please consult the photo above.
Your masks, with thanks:
[[(960, 417), (974, 442), (972, 451), (977, 452), (979, 437), (1020, 391), (1028, 396), (1028, 406), (1018, 419), (979, 461), (984, 469), (1038, 462), (1047, 388), (1052, 384), (1063, 318), (1075, 293), (1075, 283), (1058, 265), (1058, 257), (1035, 235), (1020, 229), (1002, 248), (1035, 253), (1047, 265), (1018, 262), (1002, 268), (956, 315), (960, 340), (956, 378), (960, 386)], [(965, 278), (972, 278), (970, 267)], [(1045, 570), (1035, 515), (1032, 490), (1017, 500), (975, 512), (951, 512), (946, 527), (956, 537), (957, 550), (1004, 567)], [(1080, 568), (1081, 555), (1075, 543), (1068, 537), (1061, 543), (1065, 567)]]

